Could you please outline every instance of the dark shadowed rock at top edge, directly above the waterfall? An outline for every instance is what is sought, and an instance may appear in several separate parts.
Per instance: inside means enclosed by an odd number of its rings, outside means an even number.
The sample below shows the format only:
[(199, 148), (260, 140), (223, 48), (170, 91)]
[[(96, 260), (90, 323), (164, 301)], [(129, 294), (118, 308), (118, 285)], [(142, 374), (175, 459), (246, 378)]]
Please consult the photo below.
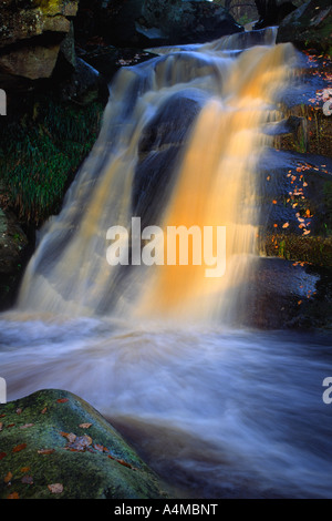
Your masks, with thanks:
[[(197, 43), (243, 30), (222, 7), (207, 1), (83, 1), (75, 21), (79, 39), (102, 35), (120, 47)], [(92, 31), (92, 32), (91, 32)]]

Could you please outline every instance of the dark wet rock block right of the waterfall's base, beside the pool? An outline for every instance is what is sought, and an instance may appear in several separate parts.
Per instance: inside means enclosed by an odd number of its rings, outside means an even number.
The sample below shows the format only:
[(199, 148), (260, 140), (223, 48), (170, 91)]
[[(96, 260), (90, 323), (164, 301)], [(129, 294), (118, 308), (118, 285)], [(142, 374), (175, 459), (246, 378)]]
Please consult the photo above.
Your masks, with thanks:
[(248, 282), (250, 306), (243, 323), (260, 329), (332, 328), (331, 268), (261, 257)]

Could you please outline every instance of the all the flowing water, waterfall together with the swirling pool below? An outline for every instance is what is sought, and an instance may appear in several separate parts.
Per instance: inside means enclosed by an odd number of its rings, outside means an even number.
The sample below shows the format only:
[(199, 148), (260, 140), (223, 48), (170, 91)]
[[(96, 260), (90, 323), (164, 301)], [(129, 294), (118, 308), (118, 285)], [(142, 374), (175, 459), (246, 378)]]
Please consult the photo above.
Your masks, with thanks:
[[(98, 140), (1, 317), (9, 399), (76, 392), (179, 493), (200, 498), (331, 493), (324, 344), (240, 327), (257, 260), (257, 162), (271, 144), (263, 126), (297, 60), (273, 29), (260, 34), (256, 47), (238, 35), (159, 49), (118, 73)], [(131, 239), (133, 217), (141, 229), (225, 227), (225, 274), (205, 276), (216, 242), (205, 263), (190, 262), (194, 238), (187, 264), (144, 264), (139, 238), (138, 262), (128, 241), (131, 262), (111, 266), (107, 229)], [(165, 235), (157, 244), (165, 255)]]

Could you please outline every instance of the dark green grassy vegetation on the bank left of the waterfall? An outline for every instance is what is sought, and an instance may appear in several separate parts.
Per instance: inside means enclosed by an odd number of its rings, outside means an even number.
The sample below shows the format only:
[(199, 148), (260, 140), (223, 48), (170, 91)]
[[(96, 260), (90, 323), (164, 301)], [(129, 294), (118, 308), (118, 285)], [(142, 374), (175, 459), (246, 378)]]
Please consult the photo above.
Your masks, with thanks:
[(93, 146), (103, 105), (64, 104), (44, 98), (31, 114), (0, 129), (0, 204), (41, 224), (59, 212), (64, 192)]

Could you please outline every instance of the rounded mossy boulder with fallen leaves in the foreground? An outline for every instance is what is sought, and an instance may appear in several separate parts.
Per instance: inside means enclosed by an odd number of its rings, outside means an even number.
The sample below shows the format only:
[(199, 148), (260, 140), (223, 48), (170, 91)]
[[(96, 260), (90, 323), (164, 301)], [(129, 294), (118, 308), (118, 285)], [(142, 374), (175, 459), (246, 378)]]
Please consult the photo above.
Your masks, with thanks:
[(0, 440), (1, 499), (166, 498), (106, 419), (64, 390), (1, 405)]

